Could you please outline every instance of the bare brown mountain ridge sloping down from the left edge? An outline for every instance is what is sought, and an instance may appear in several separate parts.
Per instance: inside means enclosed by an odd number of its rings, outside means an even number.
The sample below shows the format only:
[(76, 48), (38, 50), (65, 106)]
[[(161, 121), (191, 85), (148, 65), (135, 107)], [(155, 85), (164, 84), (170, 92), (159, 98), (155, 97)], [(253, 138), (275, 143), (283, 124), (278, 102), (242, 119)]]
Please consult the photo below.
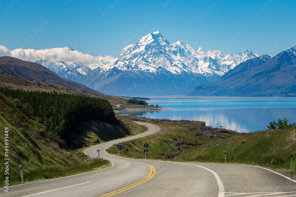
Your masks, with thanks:
[[(53, 71), (50, 71), (49, 69), (35, 62), (28, 62), (13, 57), (2, 56), (0, 57), (0, 71), (19, 77), (21, 79), (35, 80), (50, 85), (75, 88), (84, 90), (86, 92), (103, 95), (101, 92), (86, 87), (85, 85), (71, 81), (70, 79), (65, 79), (64, 77), (59, 76)], [(22, 83), (22, 85), (25, 85), (28, 82)]]

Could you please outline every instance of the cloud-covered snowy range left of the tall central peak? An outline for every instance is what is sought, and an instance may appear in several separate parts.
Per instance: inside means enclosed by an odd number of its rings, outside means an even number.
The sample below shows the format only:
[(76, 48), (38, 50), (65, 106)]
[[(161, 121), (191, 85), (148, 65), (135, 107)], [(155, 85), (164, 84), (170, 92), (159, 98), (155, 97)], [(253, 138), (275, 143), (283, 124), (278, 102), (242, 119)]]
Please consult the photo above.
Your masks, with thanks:
[(24, 61), (37, 62), (60, 76), (76, 82), (91, 70), (115, 60), (112, 56), (96, 56), (92, 53), (83, 53), (80, 50), (75, 51), (67, 46), (41, 50), (19, 48), (9, 51), (0, 45), (0, 56), (11, 56)]

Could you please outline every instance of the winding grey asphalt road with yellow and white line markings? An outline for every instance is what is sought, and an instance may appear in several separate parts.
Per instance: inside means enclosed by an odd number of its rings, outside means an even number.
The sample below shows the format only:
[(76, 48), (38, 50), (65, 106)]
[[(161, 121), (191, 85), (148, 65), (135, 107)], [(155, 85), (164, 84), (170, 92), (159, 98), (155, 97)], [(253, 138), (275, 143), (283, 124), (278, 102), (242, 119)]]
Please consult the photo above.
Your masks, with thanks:
[[(296, 196), (296, 181), (249, 165), (204, 164), (125, 159), (107, 154), (113, 144), (158, 131), (98, 144), (84, 152), (112, 166), (94, 172), (9, 187), (0, 196)], [(144, 147), (144, 146), (143, 146)]]

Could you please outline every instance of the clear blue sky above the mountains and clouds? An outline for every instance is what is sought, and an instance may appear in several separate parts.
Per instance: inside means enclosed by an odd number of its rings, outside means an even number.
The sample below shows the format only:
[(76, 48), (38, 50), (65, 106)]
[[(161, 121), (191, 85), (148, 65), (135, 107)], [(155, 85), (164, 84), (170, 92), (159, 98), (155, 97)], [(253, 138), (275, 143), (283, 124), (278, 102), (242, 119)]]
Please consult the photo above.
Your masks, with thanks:
[(0, 8), (0, 45), (9, 50), (69, 46), (117, 56), (155, 31), (223, 53), (275, 56), (296, 45), (295, 0), (2, 0)]

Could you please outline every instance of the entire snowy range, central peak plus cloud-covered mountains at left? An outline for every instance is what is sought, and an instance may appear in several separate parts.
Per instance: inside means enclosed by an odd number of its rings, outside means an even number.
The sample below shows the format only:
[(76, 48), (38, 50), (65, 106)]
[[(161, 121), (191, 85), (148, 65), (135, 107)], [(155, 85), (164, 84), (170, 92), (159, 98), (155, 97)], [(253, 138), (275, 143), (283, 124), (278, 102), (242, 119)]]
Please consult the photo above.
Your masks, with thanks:
[(0, 56), (36, 62), (55, 73), (107, 95), (184, 95), (202, 83), (220, 79), (230, 69), (255, 54), (238, 54), (170, 43), (159, 32), (149, 33), (128, 45), (118, 57), (96, 56), (69, 47), (44, 50), (0, 46)]

